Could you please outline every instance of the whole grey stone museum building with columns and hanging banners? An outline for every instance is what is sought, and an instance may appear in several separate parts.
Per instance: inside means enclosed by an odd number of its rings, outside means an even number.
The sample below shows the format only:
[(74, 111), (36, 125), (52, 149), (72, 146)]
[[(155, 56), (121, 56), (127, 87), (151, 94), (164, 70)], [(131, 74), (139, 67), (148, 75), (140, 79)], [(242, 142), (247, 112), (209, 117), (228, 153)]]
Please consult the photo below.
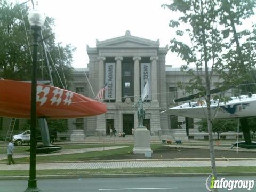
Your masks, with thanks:
[[(106, 136), (110, 134), (110, 128), (114, 128), (117, 134), (132, 135), (132, 129), (138, 126), (138, 106), (134, 104), (147, 82), (149, 95), (144, 105), (143, 125), (150, 130), (151, 136), (168, 135), (175, 140), (207, 139), (207, 133), (198, 132), (195, 125), (198, 119), (161, 113), (180, 104), (174, 103), (174, 99), (188, 95), (177, 87), (177, 82), (188, 84), (191, 79), (186, 71), (166, 65), (167, 52), (167, 45), (159, 47), (159, 39), (151, 41), (135, 37), (130, 31), (121, 37), (97, 40), (96, 47), (87, 45), (90, 62), (87, 68), (75, 68), (69, 90), (95, 98), (98, 91), (106, 87), (104, 97), (99, 101), (106, 103), (107, 113), (68, 119), (68, 131), (58, 132), (58, 139), (72, 141), (84, 140), (87, 136)], [(212, 82), (218, 79), (213, 75)], [(4, 135), (9, 122), (10, 118), (0, 118), (1, 135)], [(189, 133), (184, 122), (187, 122)], [(22, 121), (18, 123), (21, 125)], [(19, 129), (19, 125), (16, 127)], [(221, 137), (235, 139), (236, 133), (222, 133)]]

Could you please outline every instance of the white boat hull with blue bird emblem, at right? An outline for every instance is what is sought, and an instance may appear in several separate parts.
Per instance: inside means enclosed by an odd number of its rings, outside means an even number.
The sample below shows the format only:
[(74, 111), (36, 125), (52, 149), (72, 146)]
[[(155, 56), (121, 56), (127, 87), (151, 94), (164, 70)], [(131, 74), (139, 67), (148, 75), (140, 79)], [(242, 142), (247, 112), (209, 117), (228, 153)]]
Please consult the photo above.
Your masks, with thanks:
[[(169, 115), (184, 116), (190, 118), (205, 119), (207, 108), (205, 102), (190, 102), (173, 108), (166, 109)], [(215, 114), (215, 119), (241, 118), (256, 116), (256, 94), (251, 97), (242, 95), (239, 98), (232, 98), (231, 101), (220, 103), (211, 101), (211, 116)]]

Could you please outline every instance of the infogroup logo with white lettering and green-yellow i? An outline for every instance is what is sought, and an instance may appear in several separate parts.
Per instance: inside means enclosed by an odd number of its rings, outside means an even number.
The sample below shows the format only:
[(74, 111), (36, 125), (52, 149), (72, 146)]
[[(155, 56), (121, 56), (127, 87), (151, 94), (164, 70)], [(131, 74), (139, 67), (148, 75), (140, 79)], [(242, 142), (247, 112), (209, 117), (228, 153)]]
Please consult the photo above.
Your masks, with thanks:
[(247, 189), (251, 190), (254, 186), (255, 180), (226, 180), (225, 177), (222, 177), (220, 180), (215, 179), (214, 175), (211, 174), (207, 177), (205, 186), (208, 191), (213, 189)]

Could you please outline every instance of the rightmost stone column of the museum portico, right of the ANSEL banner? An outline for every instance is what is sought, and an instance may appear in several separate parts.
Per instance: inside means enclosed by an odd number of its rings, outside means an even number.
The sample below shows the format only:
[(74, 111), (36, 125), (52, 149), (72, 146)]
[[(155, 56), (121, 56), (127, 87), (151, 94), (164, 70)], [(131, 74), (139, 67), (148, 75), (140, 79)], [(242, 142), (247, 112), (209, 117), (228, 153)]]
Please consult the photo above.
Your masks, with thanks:
[(153, 103), (157, 101), (157, 59), (158, 56), (150, 57), (151, 60), (151, 98)]

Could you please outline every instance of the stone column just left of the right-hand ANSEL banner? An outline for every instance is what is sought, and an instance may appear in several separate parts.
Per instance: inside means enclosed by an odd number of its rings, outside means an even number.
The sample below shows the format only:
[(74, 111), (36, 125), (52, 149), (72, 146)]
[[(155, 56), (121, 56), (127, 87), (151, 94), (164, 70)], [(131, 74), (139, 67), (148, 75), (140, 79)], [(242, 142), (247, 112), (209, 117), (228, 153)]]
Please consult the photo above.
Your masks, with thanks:
[(141, 57), (135, 56), (134, 60), (134, 102), (140, 98), (140, 60)]

